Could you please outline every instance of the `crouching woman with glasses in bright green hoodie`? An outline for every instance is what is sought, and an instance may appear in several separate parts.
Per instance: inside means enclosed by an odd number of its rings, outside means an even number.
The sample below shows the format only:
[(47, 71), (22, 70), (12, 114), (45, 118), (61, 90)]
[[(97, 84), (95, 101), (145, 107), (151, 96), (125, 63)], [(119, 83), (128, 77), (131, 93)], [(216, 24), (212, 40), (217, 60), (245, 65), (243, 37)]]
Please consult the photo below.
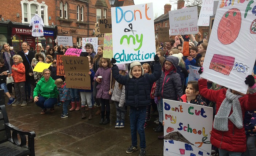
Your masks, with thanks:
[[(41, 115), (46, 113), (46, 109), (50, 109), (50, 113), (54, 112), (54, 104), (57, 103), (58, 95), (57, 86), (54, 82), (50, 76), (50, 70), (44, 69), (43, 77), (38, 81), (33, 95), (35, 104), (42, 108)], [(38, 97), (38, 95), (40, 96)]]

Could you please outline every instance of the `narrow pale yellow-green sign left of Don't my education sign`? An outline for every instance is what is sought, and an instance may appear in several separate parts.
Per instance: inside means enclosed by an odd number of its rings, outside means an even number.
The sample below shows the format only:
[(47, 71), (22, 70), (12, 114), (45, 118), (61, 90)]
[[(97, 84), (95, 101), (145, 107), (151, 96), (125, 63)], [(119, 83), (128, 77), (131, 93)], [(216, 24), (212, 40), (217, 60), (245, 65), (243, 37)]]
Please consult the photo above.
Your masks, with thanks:
[(104, 48), (103, 58), (111, 59), (113, 57), (112, 33), (105, 34), (103, 48)]

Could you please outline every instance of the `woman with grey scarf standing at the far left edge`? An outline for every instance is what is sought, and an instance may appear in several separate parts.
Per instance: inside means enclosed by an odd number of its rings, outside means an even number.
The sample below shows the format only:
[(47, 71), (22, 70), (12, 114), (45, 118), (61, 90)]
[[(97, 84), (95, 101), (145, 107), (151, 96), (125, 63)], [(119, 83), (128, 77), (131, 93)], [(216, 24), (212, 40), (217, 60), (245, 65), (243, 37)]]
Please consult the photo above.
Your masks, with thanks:
[[(4, 43), (1, 49), (0, 58), (4, 59), (4, 65), (7, 67), (8, 71), (12, 73), (12, 65), (14, 64), (14, 61), (12, 57), (16, 55), (17, 53), (11, 49), (10, 45), (7, 43)], [(7, 89), (10, 94), (12, 94), (12, 87), (14, 87), (13, 83), (7, 84)], [(14, 97), (14, 95), (12, 95)]]

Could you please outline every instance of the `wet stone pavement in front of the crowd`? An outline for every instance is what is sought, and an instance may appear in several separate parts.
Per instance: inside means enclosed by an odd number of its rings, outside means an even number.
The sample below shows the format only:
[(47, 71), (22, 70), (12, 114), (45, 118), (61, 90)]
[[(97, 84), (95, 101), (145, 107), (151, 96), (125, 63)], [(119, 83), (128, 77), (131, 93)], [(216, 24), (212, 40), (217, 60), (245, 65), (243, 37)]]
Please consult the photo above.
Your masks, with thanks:
[[(5, 101), (7, 101), (6, 96)], [(12, 125), (35, 132), (36, 156), (139, 155), (139, 150), (131, 154), (125, 152), (131, 145), (128, 113), (125, 116), (125, 128), (114, 128), (116, 121), (114, 103), (110, 103), (110, 108), (110, 124), (99, 125), (100, 115), (94, 115), (92, 120), (88, 120), (88, 112), (85, 119), (81, 119), (80, 111), (69, 111), (68, 118), (60, 118), (62, 106), (56, 106), (54, 113), (48, 110), (45, 115), (41, 115), (41, 108), (35, 103), (28, 103), (23, 107), (6, 105), (9, 122)], [(95, 112), (96, 110), (94, 114)], [(157, 127), (154, 123), (157, 117), (157, 112), (151, 115), (151, 120), (148, 121), (148, 127), (145, 129), (148, 156), (163, 155), (163, 140), (157, 138), (163, 135), (163, 132), (153, 131), (153, 128)]]

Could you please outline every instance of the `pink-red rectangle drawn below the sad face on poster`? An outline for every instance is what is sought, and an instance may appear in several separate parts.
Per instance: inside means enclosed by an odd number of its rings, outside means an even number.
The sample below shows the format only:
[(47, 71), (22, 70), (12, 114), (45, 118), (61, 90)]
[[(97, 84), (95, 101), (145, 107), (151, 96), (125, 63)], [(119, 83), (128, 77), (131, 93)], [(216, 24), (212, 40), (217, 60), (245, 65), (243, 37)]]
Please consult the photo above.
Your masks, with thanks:
[(234, 62), (234, 57), (214, 54), (209, 68), (224, 75), (229, 75), (233, 68)]

